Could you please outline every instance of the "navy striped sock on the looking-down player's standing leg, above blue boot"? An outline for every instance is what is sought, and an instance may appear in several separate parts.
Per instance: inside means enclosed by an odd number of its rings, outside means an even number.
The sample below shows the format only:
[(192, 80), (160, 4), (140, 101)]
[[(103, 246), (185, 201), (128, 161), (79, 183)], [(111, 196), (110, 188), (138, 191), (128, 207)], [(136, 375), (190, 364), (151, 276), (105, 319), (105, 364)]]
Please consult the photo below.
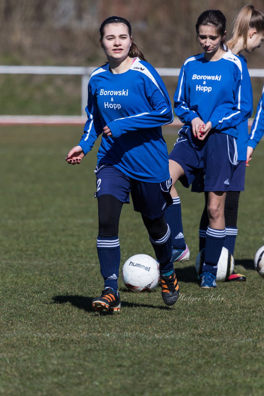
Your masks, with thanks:
[(210, 272), (217, 276), (217, 263), (224, 246), (225, 237), (225, 228), (224, 230), (216, 230), (215, 228), (207, 227), (203, 272)]

